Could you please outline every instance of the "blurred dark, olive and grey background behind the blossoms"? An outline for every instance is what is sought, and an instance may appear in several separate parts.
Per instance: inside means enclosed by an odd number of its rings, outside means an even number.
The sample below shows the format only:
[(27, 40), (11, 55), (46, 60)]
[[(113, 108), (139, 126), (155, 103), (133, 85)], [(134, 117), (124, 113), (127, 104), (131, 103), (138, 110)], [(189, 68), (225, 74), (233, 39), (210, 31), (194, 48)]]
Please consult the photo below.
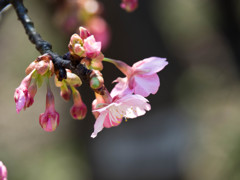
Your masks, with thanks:
[[(88, 114), (76, 121), (69, 114), (72, 102), (64, 102), (52, 84), (60, 125), (44, 132), (38, 117), (45, 86), (31, 108), (15, 111), (15, 88), (39, 53), (10, 8), (0, 21), (0, 160), (9, 180), (240, 179), (239, 1), (139, 0), (139, 8), (127, 13), (120, 0), (102, 0), (98, 11), (96, 3), (88, 4), (94, 16), (86, 15), (87, 8), (78, 11), (75, 1), (24, 2), (37, 31), (59, 54), (68, 51), (77, 26), (90, 28), (87, 22), (101, 17), (101, 26), (91, 30), (106, 33), (106, 57), (132, 65), (159, 56), (169, 65), (159, 73), (158, 93), (148, 97), (152, 110), (95, 139), (93, 92), (80, 87)], [(108, 89), (123, 77), (109, 64), (103, 76)]]

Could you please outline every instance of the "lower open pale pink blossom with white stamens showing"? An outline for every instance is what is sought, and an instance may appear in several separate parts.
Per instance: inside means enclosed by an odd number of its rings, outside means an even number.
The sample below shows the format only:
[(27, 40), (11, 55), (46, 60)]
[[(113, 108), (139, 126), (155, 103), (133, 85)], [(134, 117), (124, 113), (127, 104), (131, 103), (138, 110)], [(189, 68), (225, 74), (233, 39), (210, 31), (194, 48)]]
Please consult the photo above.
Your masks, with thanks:
[(99, 105), (100, 108), (97, 107), (97, 99), (95, 99), (93, 113), (97, 119), (94, 124), (94, 132), (91, 135), (92, 138), (95, 138), (104, 127), (118, 126), (123, 118), (136, 118), (151, 109), (147, 99), (132, 94), (115, 96), (110, 103), (100, 103)]

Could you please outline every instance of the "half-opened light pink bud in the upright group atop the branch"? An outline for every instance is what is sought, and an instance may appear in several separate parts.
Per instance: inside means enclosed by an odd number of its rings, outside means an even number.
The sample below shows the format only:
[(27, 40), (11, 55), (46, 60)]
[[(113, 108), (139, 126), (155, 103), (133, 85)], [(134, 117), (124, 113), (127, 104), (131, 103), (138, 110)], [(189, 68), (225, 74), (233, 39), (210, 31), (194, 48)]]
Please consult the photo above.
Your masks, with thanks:
[(101, 42), (96, 42), (93, 35), (84, 39), (83, 47), (88, 58), (96, 58), (101, 53)]

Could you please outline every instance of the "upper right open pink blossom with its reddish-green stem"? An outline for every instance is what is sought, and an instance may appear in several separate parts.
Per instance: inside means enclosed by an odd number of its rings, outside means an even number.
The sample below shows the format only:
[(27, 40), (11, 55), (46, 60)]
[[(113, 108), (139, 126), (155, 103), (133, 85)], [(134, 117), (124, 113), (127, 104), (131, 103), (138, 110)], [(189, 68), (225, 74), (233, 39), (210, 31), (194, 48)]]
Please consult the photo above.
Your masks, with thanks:
[(122, 61), (109, 60), (115, 64), (125, 75), (125, 78), (118, 78), (112, 94), (121, 94), (129, 91), (140, 94), (144, 97), (150, 94), (156, 94), (160, 86), (160, 80), (157, 72), (161, 71), (168, 62), (165, 58), (150, 57), (138, 61), (132, 67)]

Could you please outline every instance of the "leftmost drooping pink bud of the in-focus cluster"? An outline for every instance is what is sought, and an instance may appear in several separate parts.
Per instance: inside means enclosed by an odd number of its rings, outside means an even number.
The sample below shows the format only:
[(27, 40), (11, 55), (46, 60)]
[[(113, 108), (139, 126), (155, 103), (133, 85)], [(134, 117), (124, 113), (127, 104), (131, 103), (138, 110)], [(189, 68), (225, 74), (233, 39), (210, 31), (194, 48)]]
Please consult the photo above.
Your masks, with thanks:
[(17, 113), (19, 113), (26, 106), (26, 103), (28, 102), (28, 98), (29, 98), (28, 87), (32, 80), (32, 74), (33, 73), (30, 73), (29, 75), (27, 75), (22, 80), (20, 86), (15, 90), (14, 100), (16, 103)]

